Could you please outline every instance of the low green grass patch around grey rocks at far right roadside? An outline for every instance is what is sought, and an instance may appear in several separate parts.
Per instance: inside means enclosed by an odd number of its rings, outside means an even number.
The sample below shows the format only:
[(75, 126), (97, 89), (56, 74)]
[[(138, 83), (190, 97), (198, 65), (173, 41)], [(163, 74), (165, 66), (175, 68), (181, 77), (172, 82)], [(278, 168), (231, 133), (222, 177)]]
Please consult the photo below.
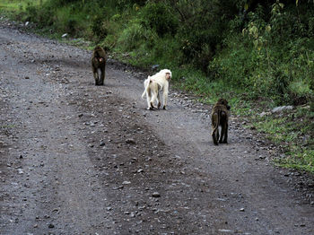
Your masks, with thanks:
[(308, 107), (300, 107), (284, 116), (257, 116), (257, 130), (284, 147), (286, 157), (278, 158), (278, 165), (314, 173), (313, 117), (314, 113)]

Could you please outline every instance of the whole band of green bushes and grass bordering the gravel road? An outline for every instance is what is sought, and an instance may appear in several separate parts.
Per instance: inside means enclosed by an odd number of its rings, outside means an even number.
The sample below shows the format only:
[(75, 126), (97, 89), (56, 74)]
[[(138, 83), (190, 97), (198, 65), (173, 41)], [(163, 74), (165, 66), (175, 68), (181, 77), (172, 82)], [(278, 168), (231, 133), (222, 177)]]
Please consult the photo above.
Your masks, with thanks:
[[(282, 145), (275, 162), (314, 173), (314, 3), (255, 0), (3, 0), (1, 13), (50, 37), (100, 44), (142, 68), (170, 68), (174, 84)], [(294, 109), (279, 114), (277, 106)], [(266, 112), (266, 115), (260, 115)]]

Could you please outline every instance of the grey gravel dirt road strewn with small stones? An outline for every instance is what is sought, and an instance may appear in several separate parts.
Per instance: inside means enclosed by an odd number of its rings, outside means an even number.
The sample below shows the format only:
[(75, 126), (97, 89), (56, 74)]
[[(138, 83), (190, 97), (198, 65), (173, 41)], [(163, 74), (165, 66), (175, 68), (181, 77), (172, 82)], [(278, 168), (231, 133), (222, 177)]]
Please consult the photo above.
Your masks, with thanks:
[(144, 74), (96, 87), (90, 55), (0, 26), (1, 234), (314, 234), (304, 176), (235, 117), (214, 146), (210, 107), (146, 110)]

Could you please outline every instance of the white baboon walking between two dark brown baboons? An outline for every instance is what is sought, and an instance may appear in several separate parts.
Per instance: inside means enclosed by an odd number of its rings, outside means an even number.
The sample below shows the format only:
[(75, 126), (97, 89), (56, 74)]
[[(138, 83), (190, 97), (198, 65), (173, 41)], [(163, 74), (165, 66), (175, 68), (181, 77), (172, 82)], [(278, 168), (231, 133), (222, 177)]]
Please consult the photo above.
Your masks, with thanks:
[(161, 107), (161, 99), (160, 99), (160, 91), (162, 91), (162, 102), (163, 108), (166, 109), (167, 100), (168, 100), (168, 90), (169, 90), (169, 81), (172, 77), (171, 71), (169, 69), (162, 69), (157, 74), (153, 76), (148, 76), (148, 78), (144, 81), (144, 93), (142, 94), (142, 98), (146, 94), (147, 98), (147, 109), (156, 109), (153, 106), (153, 102), (157, 100), (158, 109)]

